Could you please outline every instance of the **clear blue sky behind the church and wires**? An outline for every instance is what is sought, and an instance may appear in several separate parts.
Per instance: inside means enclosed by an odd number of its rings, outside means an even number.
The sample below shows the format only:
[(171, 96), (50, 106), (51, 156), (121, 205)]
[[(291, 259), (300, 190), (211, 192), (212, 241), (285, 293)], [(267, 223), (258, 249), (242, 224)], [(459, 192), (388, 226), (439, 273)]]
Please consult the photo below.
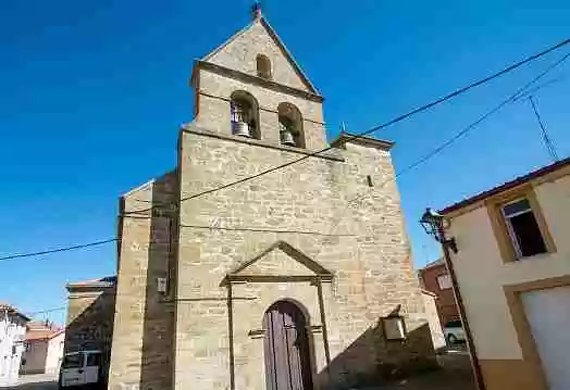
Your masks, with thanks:
[[(247, 0), (0, 3), (0, 255), (113, 237), (117, 197), (175, 165), (193, 61), (249, 22)], [(267, 0), (264, 13), (325, 100), (330, 136), (363, 131), (570, 37), (565, 0)], [(375, 136), (399, 171), (570, 48)], [(570, 154), (570, 61), (536, 102)], [(526, 101), (399, 180), (416, 264), (438, 255), (417, 219), (549, 163)], [(108, 244), (0, 262), (0, 300), (65, 305), (64, 284), (112, 275)], [(49, 318), (63, 322), (64, 313)], [(38, 318), (44, 318), (39, 316)]]

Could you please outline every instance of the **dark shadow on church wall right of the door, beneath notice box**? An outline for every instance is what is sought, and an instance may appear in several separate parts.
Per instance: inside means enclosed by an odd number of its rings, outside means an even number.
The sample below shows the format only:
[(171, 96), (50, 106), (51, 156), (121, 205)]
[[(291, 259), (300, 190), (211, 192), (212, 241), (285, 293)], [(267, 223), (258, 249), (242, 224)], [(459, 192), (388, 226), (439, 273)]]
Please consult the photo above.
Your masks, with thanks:
[(315, 382), (321, 389), (379, 386), (437, 367), (428, 323), (405, 340), (386, 340), (379, 319), (318, 373)]

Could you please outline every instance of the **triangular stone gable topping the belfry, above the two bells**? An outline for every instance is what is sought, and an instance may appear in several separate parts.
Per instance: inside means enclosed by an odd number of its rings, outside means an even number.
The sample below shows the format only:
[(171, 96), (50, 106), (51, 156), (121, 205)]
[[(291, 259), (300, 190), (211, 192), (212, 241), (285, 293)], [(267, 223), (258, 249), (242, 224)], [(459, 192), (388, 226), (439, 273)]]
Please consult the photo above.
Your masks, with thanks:
[[(317, 88), (311, 84), (299, 64), (297, 64), (281, 38), (264, 17), (256, 18), (245, 28), (234, 34), (228, 40), (206, 55), (202, 61), (251, 74), (253, 72), (251, 66), (255, 66), (255, 58), (258, 52), (247, 52), (247, 50), (245, 50), (248, 40), (259, 41), (261, 43), (259, 53), (270, 56), (272, 62), (275, 62), (280, 59), (275, 58), (275, 52), (271, 50), (271, 45), (267, 45), (273, 43), (284, 59), (284, 61), (274, 63), (274, 65), (280, 67), (280, 72), (274, 75), (273, 80), (275, 83), (319, 95)], [(251, 59), (246, 59), (246, 55), (250, 55)]]

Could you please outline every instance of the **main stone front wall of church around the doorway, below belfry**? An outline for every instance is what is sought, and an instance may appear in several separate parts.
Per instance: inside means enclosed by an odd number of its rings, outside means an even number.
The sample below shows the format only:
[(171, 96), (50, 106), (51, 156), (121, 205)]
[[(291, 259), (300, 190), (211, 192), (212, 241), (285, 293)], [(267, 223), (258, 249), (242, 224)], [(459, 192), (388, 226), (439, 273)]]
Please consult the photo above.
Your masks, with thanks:
[[(287, 151), (193, 134), (191, 127), (181, 137), (183, 198), (298, 159)], [(432, 362), (430, 331), (422, 318), (424, 309), (409, 257), (389, 153), (356, 144), (347, 144), (340, 152), (346, 162), (311, 158), (181, 204), (176, 389), (190, 383), (200, 390), (231, 386), (227, 292), (221, 282), (237, 264), (277, 240), (335, 273), (324, 292), (332, 362), (326, 373), (315, 375), (326, 375), (331, 386), (342, 387), (384, 368), (393, 373), (397, 366)], [(372, 176), (373, 188), (368, 187), (367, 175)], [(356, 197), (361, 198), (349, 203)], [(245, 305), (240, 318), (248, 315)], [(258, 312), (251, 314), (261, 320)], [(395, 312), (406, 317), (409, 338), (404, 342), (383, 338), (380, 317)], [(320, 319), (317, 325), (322, 325)], [(243, 337), (234, 335), (234, 341)], [(264, 378), (259, 374), (248, 383), (262, 389)]]

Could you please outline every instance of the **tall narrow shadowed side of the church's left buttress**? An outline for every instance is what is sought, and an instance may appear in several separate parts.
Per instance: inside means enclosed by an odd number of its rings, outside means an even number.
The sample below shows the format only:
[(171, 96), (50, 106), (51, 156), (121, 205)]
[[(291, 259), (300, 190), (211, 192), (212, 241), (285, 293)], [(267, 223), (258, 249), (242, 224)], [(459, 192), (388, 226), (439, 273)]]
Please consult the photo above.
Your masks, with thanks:
[[(174, 351), (174, 303), (172, 295), (159, 292), (158, 279), (172, 280), (174, 242), (177, 237), (176, 214), (171, 206), (175, 198), (175, 173), (158, 178), (152, 185), (152, 206), (145, 292), (144, 336), (140, 365), (140, 390), (172, 389)], [(168, 286), (170, 288), (170, 286)]]

